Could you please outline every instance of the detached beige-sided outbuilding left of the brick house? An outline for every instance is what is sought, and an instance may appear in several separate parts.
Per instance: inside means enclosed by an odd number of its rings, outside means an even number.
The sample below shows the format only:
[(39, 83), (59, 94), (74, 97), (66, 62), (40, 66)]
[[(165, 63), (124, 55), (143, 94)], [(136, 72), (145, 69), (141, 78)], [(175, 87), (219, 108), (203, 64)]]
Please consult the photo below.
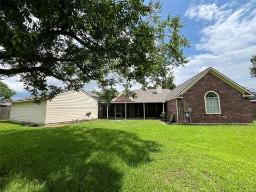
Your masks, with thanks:
[(98, 118), (98, 100), (95, 94), (70, 90), (58, 94), (51, 101), (42, 101), (40, 105), (31, 99), (11, 101), (10, 121), (35, 123), (38, 125), (60, 122), (74, 122), (87, 119), (86, 113), (91, 111), (89, 119)]

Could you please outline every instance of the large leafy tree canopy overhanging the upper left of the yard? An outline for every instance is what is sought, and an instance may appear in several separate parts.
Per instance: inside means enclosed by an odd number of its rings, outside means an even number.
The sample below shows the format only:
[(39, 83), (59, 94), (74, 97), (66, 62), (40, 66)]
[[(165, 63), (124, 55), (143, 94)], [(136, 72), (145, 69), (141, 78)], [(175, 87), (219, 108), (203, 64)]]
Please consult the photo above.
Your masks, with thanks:
[[(18, 75), (36, 99), (92, 80), (100, 87), (162, 82), (188, 62), (180, 17), (163, 19), (159, 2), (0, 1), (2, 78)], [(40, 96), (40, 97), (38, 97)]]

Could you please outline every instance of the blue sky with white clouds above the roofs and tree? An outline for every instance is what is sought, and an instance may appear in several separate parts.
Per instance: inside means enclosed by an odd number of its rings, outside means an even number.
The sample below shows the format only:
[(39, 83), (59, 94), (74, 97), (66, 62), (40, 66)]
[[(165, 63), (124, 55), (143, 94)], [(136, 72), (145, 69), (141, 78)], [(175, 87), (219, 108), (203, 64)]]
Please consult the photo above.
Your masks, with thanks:
[[(256, 89), (256, 79), (251, 78), (249, 59), (256, 54), (256, 1), (161, 1), (162, 16), (179, 14), (185, 28), (181, 30), (191, 42), (185, 50), (189, 63), (185, 68), (175, 68), (175, 83), (183, 83), (207, 67), (213, 67), (239, 85)], [(5, 80), (17, 91), (13, 99), (28, 97), (18, 77)], [(52, 83), (60, 82), (51, 79)], [(139, 89), (136, 84), (134, 89)], [(92, 82), (84, 90), (97, 89)], [(122, 87), (117, 89), (122, 91)]]

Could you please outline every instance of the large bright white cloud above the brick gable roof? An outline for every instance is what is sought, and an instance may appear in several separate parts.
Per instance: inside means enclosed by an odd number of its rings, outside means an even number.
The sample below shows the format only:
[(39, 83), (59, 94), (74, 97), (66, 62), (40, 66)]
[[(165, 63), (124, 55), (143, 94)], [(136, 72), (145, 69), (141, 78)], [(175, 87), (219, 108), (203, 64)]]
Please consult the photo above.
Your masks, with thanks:
[[(215, 7), (213, 10), (218, 14), (225, 12), (223, 6), (218, 7), (215, 3), (206, 5), (206, 7)], [(187, 11), (186, 14), (190, 12)], [(204, 15), (204, 13), (197, 14)], [(189, 18), (197, 19), (191, 15)], [(251, 66), (249, 60), (253, 54), (256, 54), (255, 1), (241, 5), (228, 14), (225, 13), (225, 19), (223, 17), (214, 19), (213, 22), (205, 23), (199, 33), (200, 41), (195, 47), (202, 53), (191, 55), (190, 62), (185, 68), (175, 70), (175, 82), (181, 84), (211, 66), (242, 86), (256, 88), (255, 79), (249, 74)], [(190, 75), (187, 76), (188, 74)]]

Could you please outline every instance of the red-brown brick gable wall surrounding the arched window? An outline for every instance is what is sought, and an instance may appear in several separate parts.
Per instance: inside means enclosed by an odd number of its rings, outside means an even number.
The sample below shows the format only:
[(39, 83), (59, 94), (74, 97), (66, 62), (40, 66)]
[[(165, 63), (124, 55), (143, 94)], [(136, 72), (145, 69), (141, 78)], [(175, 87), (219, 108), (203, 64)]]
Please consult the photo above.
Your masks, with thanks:
[[(220, 97), (221, 114), (206, 114), (204, 95), (208, 91), (215, 91)], [(170, 102), (170, 104), (168, 104)], [(183, 99), (178, 100), (180, 110), (180, 122), (189, 122), (189, 118), (183, 115), (183, 102), (188, 103), (192, 109), (192, 123), (252, 123), (249, 98), (244, 98), (243, 93), (237, 91), (215, 75), (208, 73), (192, 86)], [(167, 101), (167, 106), (171, 106), (173, 100)], [(174, 113), (167, 109), (169, 113)], [(176, 114), (173, 114), (176, 116)]]

